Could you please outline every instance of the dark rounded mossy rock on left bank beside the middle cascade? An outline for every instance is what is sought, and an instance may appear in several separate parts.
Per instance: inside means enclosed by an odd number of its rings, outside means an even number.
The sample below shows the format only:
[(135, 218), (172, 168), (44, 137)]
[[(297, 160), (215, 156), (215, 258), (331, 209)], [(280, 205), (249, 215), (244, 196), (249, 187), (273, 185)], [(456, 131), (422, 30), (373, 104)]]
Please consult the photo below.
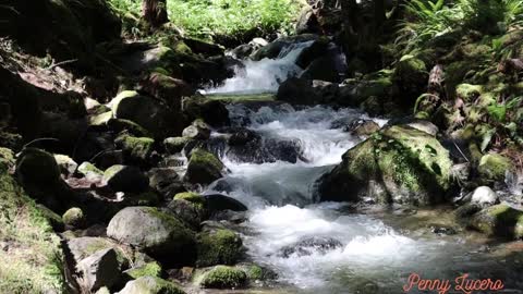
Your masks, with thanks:
[(212, 154), (196, 148), (191, 154), (184, 180), (192, 184), (210, 184), (223, 176), (226, 167)]

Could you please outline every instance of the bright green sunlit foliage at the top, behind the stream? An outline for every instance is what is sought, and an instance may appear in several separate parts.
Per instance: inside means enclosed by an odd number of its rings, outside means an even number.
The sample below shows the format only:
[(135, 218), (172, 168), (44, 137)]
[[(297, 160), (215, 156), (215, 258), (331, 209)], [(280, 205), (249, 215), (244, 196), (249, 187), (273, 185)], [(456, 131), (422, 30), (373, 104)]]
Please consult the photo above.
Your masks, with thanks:
[[(109, 0), (121, 15), (137, 20), (141, 0)], [(296, 0), (168, 0), (169, 20), (188, 36), (211, 39), (290, 33), (300, 11)], [(136, 29), (136, 28), (132, 28)]]

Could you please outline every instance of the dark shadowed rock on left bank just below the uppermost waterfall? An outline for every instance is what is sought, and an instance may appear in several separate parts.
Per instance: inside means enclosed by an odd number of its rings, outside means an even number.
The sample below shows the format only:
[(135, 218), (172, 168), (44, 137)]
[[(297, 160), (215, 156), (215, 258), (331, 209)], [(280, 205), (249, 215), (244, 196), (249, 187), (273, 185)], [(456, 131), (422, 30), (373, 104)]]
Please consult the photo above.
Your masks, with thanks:
[(195, 95), (182, 100), (182, 110), (193, 120), (203, 119), (211, 126), (224, 126), (230, 124), (229, 110), (218, 100), (208, 99), (202, 95)]

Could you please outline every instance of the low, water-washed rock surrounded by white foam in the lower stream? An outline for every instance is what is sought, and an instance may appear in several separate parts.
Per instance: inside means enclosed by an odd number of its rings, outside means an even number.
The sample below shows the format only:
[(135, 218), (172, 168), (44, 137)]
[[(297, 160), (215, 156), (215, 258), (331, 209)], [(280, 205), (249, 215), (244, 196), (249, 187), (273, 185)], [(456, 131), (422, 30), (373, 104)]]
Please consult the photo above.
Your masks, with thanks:
[(282, 247), (278, 255), (284, 258), (296, 256), (308, 256), (313, 254), (326, 254), (336, 248), (342, 247), (343, 244), (336, 238), (331, 237), (308, 237), (299, 241), (292, 245)]

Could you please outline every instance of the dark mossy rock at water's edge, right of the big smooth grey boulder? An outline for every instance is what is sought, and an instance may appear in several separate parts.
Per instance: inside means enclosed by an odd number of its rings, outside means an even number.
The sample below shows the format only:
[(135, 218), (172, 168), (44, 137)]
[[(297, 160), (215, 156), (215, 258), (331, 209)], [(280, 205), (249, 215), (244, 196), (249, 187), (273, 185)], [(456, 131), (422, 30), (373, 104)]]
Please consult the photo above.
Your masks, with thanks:
[(197, 267), (234, 265), (243, 253), (242, 240), (230, 230), (202, 232), (196, 237)]

